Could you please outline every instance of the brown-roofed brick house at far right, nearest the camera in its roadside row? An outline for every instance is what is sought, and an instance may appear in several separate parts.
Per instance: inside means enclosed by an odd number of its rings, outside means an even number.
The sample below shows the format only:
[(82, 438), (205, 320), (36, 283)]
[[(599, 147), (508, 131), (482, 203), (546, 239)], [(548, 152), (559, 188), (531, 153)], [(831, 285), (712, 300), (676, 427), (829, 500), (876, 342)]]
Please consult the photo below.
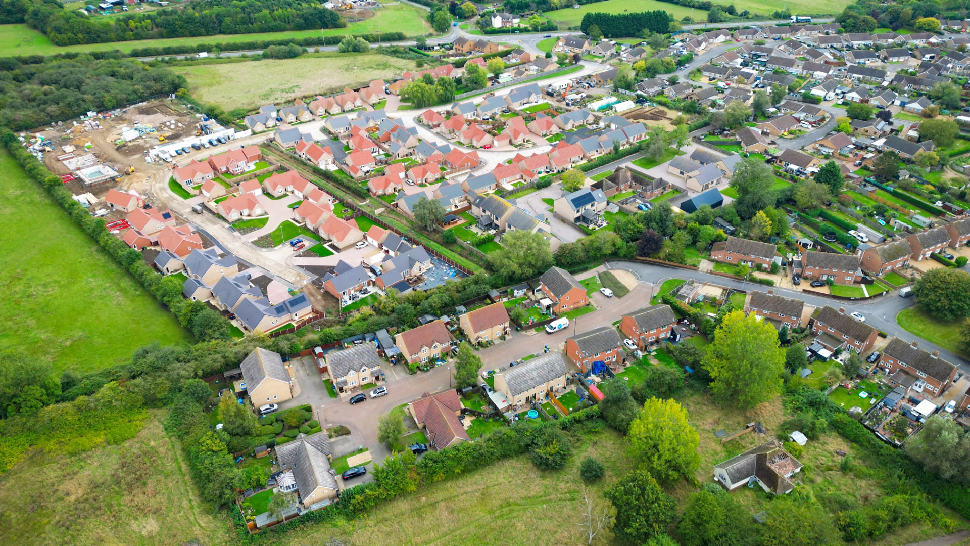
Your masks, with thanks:
[(906, 343), (892, 338), (879, 357), (879, 369), (886, 372), (889, 385), (902, 385), (907, 391), (942, 394), (954, 381), (956, 366), (940, 358), (939, 351), (927, 353), (916, 341)]

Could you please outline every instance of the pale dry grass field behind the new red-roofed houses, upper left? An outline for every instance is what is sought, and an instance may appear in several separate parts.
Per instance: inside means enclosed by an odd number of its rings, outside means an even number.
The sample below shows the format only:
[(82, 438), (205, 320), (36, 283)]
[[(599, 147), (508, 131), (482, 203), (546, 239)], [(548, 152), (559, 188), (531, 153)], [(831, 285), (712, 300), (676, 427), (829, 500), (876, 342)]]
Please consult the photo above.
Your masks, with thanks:
[(326, 94), (413, 68), (414, 61), (372, 51), (311, 53), (293, 59), (200, 64), (175, 70), (188, 79), (192, 96), (228, 110), (288, 102), (311, 93)]

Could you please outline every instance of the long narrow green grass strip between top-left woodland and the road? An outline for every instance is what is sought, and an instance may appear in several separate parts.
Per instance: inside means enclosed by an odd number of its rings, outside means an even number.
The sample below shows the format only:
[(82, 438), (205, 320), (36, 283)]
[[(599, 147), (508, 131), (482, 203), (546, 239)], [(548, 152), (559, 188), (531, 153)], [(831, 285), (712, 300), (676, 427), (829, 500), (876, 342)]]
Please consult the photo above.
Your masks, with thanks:
[[(369, 34), (379, 29), (382, 32), (400, 31), (408, 36), (416, 36), (431, 31), (431, 26), (425, 20), (424, 14), (427, 12), (416, 6), (401, 4), (375, 10), (374, 13), (374, 17), (348, 23), (344, 28), (328, 28), (323, 30), (323, 35)], [(217, 34), (215, 36), (195, 36), (191, 38), (160, 38), (57, 47), (50, 43), (47, 36), (44, 36), (25, 24), (0, 24), (0, 51), (5, 51), (4, 54), (9, 55), (50, 55), (69, 51), (118, 50), (127, 52), (148, 47), (163, 48), (165, 46), (193, 46), (196, 44), (227, 44), (252, 42), (256, 40), (309, 38), (320, 36), (320, 33), (320, 30), (285, 30), (282, 32)]]

